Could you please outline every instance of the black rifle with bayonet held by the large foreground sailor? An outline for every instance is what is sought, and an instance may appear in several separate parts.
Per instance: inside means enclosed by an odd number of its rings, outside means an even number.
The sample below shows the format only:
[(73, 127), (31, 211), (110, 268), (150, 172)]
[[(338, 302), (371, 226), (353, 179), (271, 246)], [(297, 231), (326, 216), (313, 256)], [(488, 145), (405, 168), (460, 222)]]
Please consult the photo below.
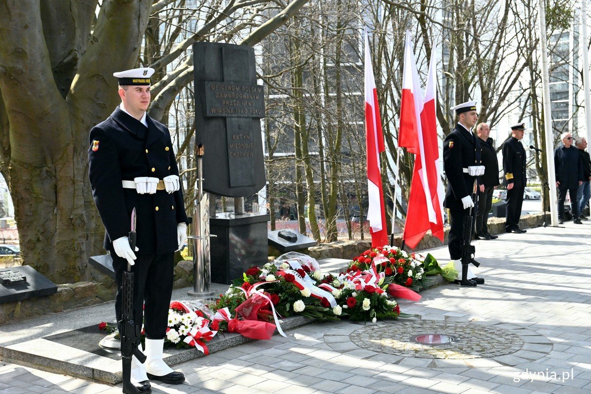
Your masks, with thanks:
[[(129, 246), (135, 251), (135, 208), (131, 213), (131, 232), (129, 232)], [(139, 362), (144, 363), (146, 356), (139, 351), (141, 325), (134, 322), (134, 273), (131, 265), (127, 263), (127, 271), (123, 272), (123, 316), (119, 322), (119, 334), (121, 336), (121, 359), (123, 361), (123, 392), (126, 394), (139, 394), (140, 391), (131, 382), (131, 357), (135, 356)]]

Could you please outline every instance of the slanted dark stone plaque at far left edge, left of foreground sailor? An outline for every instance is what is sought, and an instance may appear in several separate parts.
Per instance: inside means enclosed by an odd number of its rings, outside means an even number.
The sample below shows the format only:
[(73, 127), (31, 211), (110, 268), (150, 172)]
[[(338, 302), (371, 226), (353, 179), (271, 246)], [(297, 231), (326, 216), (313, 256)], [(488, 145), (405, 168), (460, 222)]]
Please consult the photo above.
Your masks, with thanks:
[(57, 285), (28, 265), (0, 270), (0, 304), (57, 293)]

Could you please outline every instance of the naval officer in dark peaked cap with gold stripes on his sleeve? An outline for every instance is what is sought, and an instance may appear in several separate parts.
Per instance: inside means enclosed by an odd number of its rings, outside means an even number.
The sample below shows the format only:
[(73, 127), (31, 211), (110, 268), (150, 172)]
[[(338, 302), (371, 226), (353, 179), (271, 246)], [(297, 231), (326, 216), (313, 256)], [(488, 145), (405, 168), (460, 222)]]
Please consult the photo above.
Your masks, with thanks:
[(523, 204), (523, 193), (527, 183), (525, 174), (525, 149), (521, 139), (525, 133), (525, 123), (511, 126), (511, 136), (503, 142), (503, 184), (507, 187), (507, 211), (505, 231), (508, 233), (525, 233), (519, 228), (519, 217)]

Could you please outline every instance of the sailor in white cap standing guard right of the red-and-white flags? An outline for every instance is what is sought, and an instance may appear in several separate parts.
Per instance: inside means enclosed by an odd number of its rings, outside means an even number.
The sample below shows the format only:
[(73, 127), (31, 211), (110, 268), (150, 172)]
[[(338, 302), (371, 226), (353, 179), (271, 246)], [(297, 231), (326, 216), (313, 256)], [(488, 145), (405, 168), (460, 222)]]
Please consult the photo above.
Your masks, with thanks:
[[(469, 101), (452, 108), (457, 115), (456, 127), (443, 142), (443, 168), (447, 177), (447, 190), (443, 206), (450, 211), (449, 255), (458, 279), (462, 276), (462, 232), (464, 216), (474, 207), (472, 193), (476, 177), (484, 174), (480, 164), (480, 143), (471, 129), (478, 121), (476, 102)], [(467, 279), (484, 283), (468, 270)]]

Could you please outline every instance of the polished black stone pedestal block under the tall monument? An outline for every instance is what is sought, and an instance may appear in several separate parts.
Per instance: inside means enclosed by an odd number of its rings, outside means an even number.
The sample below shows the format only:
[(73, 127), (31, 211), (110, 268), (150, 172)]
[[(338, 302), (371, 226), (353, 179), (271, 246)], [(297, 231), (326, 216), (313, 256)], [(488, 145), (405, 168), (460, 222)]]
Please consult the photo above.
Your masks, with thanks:
[(269, 215), (218, 213), (209, 219), (212, 282), (229, 285), (253, 265), (267, 263)]

